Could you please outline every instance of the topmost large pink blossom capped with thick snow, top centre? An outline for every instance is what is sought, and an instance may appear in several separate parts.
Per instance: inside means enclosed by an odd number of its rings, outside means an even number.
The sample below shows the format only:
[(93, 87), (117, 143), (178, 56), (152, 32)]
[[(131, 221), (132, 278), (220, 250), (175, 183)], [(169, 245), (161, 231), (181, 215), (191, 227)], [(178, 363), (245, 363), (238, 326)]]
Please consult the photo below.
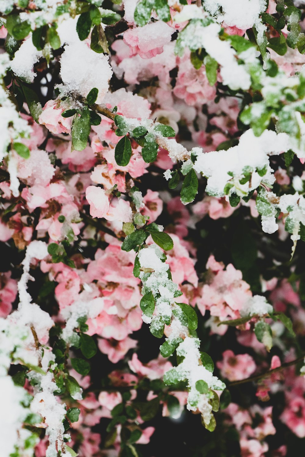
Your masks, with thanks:
[(163, 52), (163, 46), (171, 41), (174, 31), (163, 21), (135, 27), (124, 32), (124, 43), (130, 48), (130, 56), (139, 54), (142, 58), (151, 58)]

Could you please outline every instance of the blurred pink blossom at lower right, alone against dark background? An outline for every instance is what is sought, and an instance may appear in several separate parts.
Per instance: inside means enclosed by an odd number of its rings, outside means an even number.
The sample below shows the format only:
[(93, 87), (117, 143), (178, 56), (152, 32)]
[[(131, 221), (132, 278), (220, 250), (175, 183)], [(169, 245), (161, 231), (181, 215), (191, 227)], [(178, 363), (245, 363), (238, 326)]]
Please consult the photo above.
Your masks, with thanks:
[(256, 364), (249, 354), (238, 354), (228, 349), (223, 353), (223, 360), (217, 362), (221, 375), (229, 381), (238, 381), (251, 376), (256, 370)]

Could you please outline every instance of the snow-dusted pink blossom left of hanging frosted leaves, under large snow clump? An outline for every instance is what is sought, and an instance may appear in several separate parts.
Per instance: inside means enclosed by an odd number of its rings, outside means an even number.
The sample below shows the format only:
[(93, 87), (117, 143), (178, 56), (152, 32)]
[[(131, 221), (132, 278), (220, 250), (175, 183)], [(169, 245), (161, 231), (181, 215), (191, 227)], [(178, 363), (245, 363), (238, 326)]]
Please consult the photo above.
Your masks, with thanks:
[(43, 107), (38, 122), (46, 126), (52, 133), (70, 133), (72, 117), (63, 117), (64, 108), (59, 107), (55, 100), (49, 100)]

